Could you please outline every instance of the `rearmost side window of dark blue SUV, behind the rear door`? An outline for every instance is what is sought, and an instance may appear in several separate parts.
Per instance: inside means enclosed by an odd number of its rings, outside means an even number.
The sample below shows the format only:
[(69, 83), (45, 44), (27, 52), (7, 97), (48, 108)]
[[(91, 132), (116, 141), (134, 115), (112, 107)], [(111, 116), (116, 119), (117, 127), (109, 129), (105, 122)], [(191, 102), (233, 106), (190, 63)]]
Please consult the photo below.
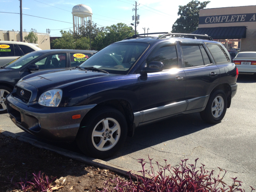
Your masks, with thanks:
[(212, 43), (206, 43), (216, 63), (227, 62), (228, 56), (220, 46)]

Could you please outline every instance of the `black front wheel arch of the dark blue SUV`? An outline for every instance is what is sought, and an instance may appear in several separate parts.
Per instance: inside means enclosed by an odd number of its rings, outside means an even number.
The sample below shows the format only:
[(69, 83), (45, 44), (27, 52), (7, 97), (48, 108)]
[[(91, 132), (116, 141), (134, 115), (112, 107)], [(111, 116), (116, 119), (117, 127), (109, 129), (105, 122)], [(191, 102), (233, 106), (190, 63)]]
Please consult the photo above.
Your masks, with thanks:
[(127, 126), (128, 126), (128, 136), (133, 136), (135, 125), (133, 123), (134, 121), (134, 114), (132, 112), (132, 107), (130, 103), (127, 100), (123, 99), (114, 99), (114, 100), (107, 100), (104, 102), (101, 102), (97, 104), (94, 108), (92, 108), (82, 119), (80, 122), (80, 127), (86, 122), (87, 117), (94, 112), (95, 110), (98, 110), (102, 106), (109, 106), (112, 108), (115, 108), (116, 110), (119, 110), (124, 117), (126, 118)]

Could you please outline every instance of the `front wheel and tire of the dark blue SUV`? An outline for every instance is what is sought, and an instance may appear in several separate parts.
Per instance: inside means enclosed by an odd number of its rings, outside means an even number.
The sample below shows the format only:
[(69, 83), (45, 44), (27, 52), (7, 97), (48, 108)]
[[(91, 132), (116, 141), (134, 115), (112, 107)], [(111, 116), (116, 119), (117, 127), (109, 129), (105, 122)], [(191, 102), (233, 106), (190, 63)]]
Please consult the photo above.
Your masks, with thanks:
[(127, 131), (126, 118), (120, 111), (101, 107), (86, 116), (86, 122), (81, 124), (76, 141), (84, 154), (104, 159), (122, 147)]

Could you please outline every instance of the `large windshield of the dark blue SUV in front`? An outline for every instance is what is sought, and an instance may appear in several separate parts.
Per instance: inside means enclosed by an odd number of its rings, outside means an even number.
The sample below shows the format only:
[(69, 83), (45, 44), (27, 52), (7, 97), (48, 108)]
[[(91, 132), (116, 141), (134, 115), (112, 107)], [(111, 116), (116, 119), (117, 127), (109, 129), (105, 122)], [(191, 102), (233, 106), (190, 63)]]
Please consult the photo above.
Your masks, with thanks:
[(121, 42), (102, 49), (80, 67), (94, 67), (112, 74), (126, 74), (148, 47), (147, 43)]

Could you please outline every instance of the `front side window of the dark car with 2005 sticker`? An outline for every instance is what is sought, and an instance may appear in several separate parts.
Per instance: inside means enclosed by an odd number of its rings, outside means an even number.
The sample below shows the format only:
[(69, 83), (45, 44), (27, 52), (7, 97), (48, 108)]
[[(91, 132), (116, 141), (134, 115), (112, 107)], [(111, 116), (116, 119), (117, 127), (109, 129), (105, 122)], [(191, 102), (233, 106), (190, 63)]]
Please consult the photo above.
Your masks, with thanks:
[(51, 54), (34, 63), (39, 70), (66, 67), (66, 53)]

